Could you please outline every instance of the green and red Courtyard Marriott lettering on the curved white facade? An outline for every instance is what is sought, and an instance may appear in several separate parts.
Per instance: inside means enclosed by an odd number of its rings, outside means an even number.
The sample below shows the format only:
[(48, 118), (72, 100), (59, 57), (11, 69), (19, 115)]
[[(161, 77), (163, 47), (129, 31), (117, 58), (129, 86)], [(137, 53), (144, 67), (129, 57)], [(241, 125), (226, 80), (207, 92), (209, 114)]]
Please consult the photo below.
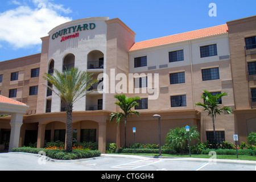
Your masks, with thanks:
[[(95, 27), (96, 27), (95, 23), (89, 23), (89, 24), (85, 23), (83, 25), (79, 24), (76, 26), (64, 28), (63, 30), (59, 30), (54, 34), (52, 34), (52, 40), (58, 38), (59, 36), (61, 36), (60, 42), (63, 42), (67, 39), (77, 38), (79, 37), (79, 31), (93, 30)], [(76, 33), (76, 34), (68, 35), (71, 33)]]

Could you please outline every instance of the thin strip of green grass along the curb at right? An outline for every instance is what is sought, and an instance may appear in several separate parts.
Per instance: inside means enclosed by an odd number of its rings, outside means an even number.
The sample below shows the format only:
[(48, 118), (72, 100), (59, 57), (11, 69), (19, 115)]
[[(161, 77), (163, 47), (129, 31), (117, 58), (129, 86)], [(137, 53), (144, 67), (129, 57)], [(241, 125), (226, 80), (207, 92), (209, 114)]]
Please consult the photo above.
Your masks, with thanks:
[[(117, 153), (111, 153), (117, 154)], [(134, 154), (134, 153), (118, 153), (122, 155), (146, 155), (146, 156), (159, 156), (159, 154)], [(173, 158), (190, 158), (189, 154), (180, 155), (180, 154), (162, 154), (162, 156), (173, 157)], [(191, 158), (204, 158), (209, 159), (211, 155), (207, 154), (192, 154)], [(256, 160), (256, 156), (252, 155), (238, 155), (238, 159), (236, 155), (216, 155), (217, 159), (235, 159), (235, 160)]]

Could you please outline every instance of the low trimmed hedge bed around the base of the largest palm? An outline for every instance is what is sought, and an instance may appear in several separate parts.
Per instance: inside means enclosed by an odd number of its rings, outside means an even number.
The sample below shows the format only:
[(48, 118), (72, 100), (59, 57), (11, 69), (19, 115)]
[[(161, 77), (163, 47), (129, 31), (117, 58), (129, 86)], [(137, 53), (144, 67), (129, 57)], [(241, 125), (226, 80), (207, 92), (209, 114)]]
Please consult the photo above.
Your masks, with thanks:
[(83, 151), (83, 150), (73, 150), (72, 152), (65, 152), (64, 150), (51, 150), (46, 148), (31, 148), (31, 147), (20, 147), (13, 148), (12, 152), (28, 152), (32, 154), (39, 154), (40, 151), (46, 152), (46, 156), (52, 159), (61, 159), (61, 160), (69, 160), (69, 159), (84, 159), (84, 158), (93, 158), (101, 155), (100, 151), (91, 150), (91, 151)]

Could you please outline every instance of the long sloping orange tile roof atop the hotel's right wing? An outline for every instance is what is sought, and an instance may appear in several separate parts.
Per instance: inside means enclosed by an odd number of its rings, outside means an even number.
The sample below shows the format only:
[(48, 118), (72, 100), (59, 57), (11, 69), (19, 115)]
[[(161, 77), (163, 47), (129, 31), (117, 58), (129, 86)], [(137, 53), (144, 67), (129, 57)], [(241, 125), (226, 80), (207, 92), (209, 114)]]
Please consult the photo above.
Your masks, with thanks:
[(226, 32), (228, 32), (228, 26), (227, 26), (227, 24), (222, 24), (222, 25), (215, 26), (215, 27), (203, 28), (200, 30), (194, 30), (194, 31), (184, 32), (181, 34), (175, 34), (175, 35), (170, 35), (170, 36), (164, 36), (162, 38), (156, 38), (156, 39), (151, 39), (151, 40), (144, 40), (142, 42), (137, 42), (137, 43), (134, 43), (134, 45), (130, 48), (129, 51), (135, 51), (138, 49), (161, 46), (164, 44), (182, 42), (185, 40), (204, 38), (207, 36), (224, 34)]

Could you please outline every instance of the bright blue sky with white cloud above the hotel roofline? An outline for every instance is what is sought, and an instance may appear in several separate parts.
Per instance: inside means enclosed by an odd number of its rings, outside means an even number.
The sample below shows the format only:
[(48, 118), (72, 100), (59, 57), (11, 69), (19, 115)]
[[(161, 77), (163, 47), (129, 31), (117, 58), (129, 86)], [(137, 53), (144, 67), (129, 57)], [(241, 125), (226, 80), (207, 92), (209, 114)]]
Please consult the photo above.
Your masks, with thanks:
[[(210, 3), (217, 16), (209, 16)], [(40, 53), (40, 38), (70, 20), (119, 18), (139, 42), (253, 16), (255, 6), (255, 0), (0, 0), (0, 61)]]

